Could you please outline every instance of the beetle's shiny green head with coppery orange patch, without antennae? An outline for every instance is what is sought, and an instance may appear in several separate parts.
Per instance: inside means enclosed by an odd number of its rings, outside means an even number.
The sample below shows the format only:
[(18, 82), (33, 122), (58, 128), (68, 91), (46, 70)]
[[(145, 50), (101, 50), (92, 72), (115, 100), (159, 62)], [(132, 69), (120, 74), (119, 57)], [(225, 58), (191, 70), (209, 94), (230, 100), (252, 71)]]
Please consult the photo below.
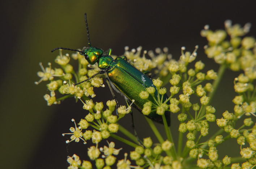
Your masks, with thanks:
[(97, 47), (84, 47), (80, 55), (84, 55), (90, 65), (94, 65), (103, 54), (103, 50)]

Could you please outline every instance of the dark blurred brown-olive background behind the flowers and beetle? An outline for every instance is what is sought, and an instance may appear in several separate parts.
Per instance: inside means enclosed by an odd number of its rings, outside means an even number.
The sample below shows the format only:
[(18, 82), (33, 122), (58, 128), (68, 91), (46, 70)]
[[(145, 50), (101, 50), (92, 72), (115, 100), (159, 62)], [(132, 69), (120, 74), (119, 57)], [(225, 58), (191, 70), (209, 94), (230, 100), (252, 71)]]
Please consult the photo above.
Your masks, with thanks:
[[(43, 99), (43, 95), (49, 94), (45, 86), (47, 82), (38, 86), (34, 84), (39, 80), (39, 62), (44, 67), (47, 67), (48, 62), (52, 63), (53, 68), (57, 67), (54, 59), (58, 52), (51, 53), (52, 49), (81, 49), (88, 46), (85, 12), (88, 14), (92, 46), (103, 50), (111, 47), (114, 55), (122, 55), (124, 46), (130, 49), (142, 46), (142, 50), (168, 47), (173, 57), (179, 59), (182, 46), (192, 52), (199, 45), (196, 61), (202, 60), (206, 64), (205, 72), (218, 70), (218, 65), (204, 54), (203, 46), (207, 41), (200, 36), (200, 31), (205, 24), (216, 30), (224, 28), (226, 19), (242, 26), (251, 22), (248, 36), (256, 35), (253, 1), (10, 0), (2, 2), (1, 8), (1, 168), (67, 168), (67, 156), (74, 153), (82, 160), (89, 159), (86, 154), (91, 141), (88, 141), (88, 145), (83, 145), (81, 141), (67, 145), (65, 141), (69, 137), (61, 136), (74, 127), (72, 118), (78, 123), (85, 117), (87, 112), (82, 109), (81, 102), (75, 103), (74, 99), (68, 99), (61, 105), (47, 106)], [(72, 53), (63, 51), (63, 54), (66, 52)], [(236, 95), (233, 80), (239, 73), (227, 70), (221, 81), (218, 94), (212, 102), (217, 109), (217, 118), (221, 118), (225, 110), (233, 112), (231, 100)], [(108, 87), (94, 91), (98, 94), (96, 101), (102, 101), (102, 92), (104, 99), (112, 99)], [(124, 99), (120, 95), (117, 97), (124, 105)], [(176, 116), (172, 115), (171, 127), (175, 141), (179, 126)], [(148, 124), (142, 123), (144, 121), (144, 117), (136, 112), (136, 128), (147, 128)], [(132, 132), (129, 115), (122, 119), (121, 124)], [(216, 123), (212, 124), (216, 127)], [(163, 126), (157, 126), (164, 133)], [(141, 139), (153, 136), (150, 131), (142, 131), (137, 130)], [(209, 132), (214, 131), (210, 128)], [(115, 143), (115, 148), (124, 149), (119, 159), (123, 158), (124, 152), (133, 150), (118, 141)], [(103, 141), (100, 147), (106, 144)], [(228, 145), (223, 144), (222, 147), (225, 146)], [(239, 145), (235, 139), (229, 146), (232, 146), (232, 150), (223, 156), (239, 156)], [(220, 153), (222, 147), (217, 148)], [(223, 156), (220, 155), (219, 159)]]

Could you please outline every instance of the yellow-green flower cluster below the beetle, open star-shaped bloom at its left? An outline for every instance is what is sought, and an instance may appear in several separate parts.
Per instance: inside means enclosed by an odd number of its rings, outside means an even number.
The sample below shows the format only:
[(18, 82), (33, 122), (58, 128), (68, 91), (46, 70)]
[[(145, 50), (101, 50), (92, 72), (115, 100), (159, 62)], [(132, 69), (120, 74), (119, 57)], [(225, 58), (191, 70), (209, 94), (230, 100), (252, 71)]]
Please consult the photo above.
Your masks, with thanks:
[[(81, 100), (80, 97), (78, 99)], [(81, 100), (82, 101), (82, 100)], [(84, 103), (84, 101), (82, 101)], [(84, 119), (81, 119), (77, 127), (74, 119), (72, 121), (75, 124), (75, 128), (71, 127), (70, 131), (72, 133), (63, 133), (63, 136), (65, 134), (72, 134), (71, 141), (79, 142), (80, 139), (84, 141), (84, 144), (86, 144), (86, 140), (90, 140), (93, 143), (98, 144), (102, 139), (106, 139), (110, 137), (110, 133), (116, 133), (118, 132), (119, 125), (117, 122), (124, 117), (125, 114), (129, 113), (131, 110), (131, 106), (129, 106), (127, 109), (125, 106), (120, 106), (118, 108), (119, 117), (116, 115), (112, 115), (112, 111), (114, 111), (116, 102), (115, 100), (107, 101), (108, 109), (103, 111), (103, 103), (102, 102), (96, 102), (94, 105), (92, 100), (86, 100), (86, 103), (84, 103), (83, 108), (88, 110), (90, 113), (86, 115)], [(94, 112), (93, 108), (96, 112)], [(125, 111), (125, 113), (123, 113)], [(105, 120), (106, 119), (106, 120)], [(93, 127), (94, 130), (86, 130), (85, 132), (82, 132), (82, 129), (87, 129), (89, 126)], [(71, 142), (67, 140), (66, 142)]]

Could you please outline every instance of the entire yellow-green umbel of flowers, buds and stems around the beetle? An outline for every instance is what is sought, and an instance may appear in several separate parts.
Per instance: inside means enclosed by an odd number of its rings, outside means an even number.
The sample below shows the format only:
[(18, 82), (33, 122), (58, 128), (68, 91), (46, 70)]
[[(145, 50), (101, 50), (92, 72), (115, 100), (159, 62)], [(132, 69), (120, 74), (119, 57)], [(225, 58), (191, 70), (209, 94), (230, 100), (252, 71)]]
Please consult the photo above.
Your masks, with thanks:
[[(95, 87), (105, 86), (104, 76), (99, 74), (91, 78), (100, 71), (97, 64), (90, 65), (84, 56), (76, 52), (71, 55), (78, 61), (78, 68), (74, 69), (69, 64), (71, 57), (69, 54), (63, 55), (62, 50), (55, 59), (55, 63), (60, 65), (60, 68), (52, 69), (51, 63), (44, 68), (40, 63), (42, 72), (38, 72), (38, 76), (41, 79), (35, 84), (48, 81), (46, 86), (50, 95), (44, 95), (47, 105), (60, 104), (61, 100), (73, 97), (76, 101), (80, 100), (84, 104), (83, 109), (86, 110), (86, 117), (79, 123), (72, 119), (74, 126), (70, 128), (71, 133), (64, 133), (63, 136), (71, 135), (67, 143), (82, 140), (86, 144), (86, 141), (91, 140), (95, 146), (88, 147), (87, 154), (88, 160), (95, 161), (95, 165), (92, 165), (91, 161), (81, 161), (80, 157), (74, 154), (68, 156), (67, 161), (70, 164), (68, 168), (181, 169), (193, 167), (204, 169), (226, 166), (231, 169), (253, 168), (256, 165), (256, 43), (255, 38), (244, 37), (249, 29), (250, 24), (241, 27), (239, 24), (232, 25), (230, 20), (225, 21), (225, 30), (212, 31), (208, 25), (204, 27), (201, 36), (208, 40), (208, 45), (204, 47), (205, 54), (219, 64), (218, 71), (204, 70), (206, 73), (202, 71), (205, 64), (201, 60), (196, 61), (193, 64), (194, 67), (188, 69), (188, 65), (191, 67), (192, 62), (196, 60), (198, 46), (192, 53), (185, 52), (185, 47), (182, 47), (179, 60), (172, 59), (167, 47), (163, 50), (157, 48), (155, 52), (145, 50), (142, 52), (141, 46), (131, 51), (128, 46), (125, 47), (122, 56), (126, 56), (131, 65), (143, 73), (149, 73), (149, 76), (155, 75), (152, 76), (155, 88), (146, 88), (139, 94), (141, 99), (146, 100), (142, 113), (149, 115), (155, 112), (163, 118), (166, 132), (164, 137), (167, 137), (167, 140), (159, 134), (154, 123), (146, 118), (158, 140), (155, 143), (150, 137), (139, 141), (138, 137), (118, 124), (125, 114), (130, 113), (134, 100), (132, 104), (121, 105), (118, 108), (115, 100), (109, 100), (106, 103), (93, 101), (93, 98), (97, 97), (94, 93)], [(118, 57), (111, 56), (114, 59)], [(234, 111), (218, 112), (218, 108), (215, 109), (210, 103), (215, 89), (221, 85), (220, 81), (226, 69), (241, 71), (241, 74), (234, 79), (234, 92), (237, 96), (233, 100), (226, 101), (226, 104), (232, 104), (231, 102), (235, 104)], [(85, 81), (86, 79), (88, 80)], [(81, 81), (84, 82), (74, 85)], [(163, 87), (166, 84), (171, 87), (168, 89)], [(153, 96), (155, 91), (158, 97), (153, 97), (155, 99), (153, 103), (148, 100), (148, 97)], [(170, 97), (164, 100), (163, 95), (166, 93)], [(56, 95), (60, 97), (56, 98)], [(174, 141), (167, 126), (166, 111), (178, 113), (179, 136), (175, 137), (178, 141)], [(221, 119), (216, 119), (214, 115), (216, 111), (222, 113)], [(238, 120), (243, 120), (243, 125), (235, 125)], [(213, 123), (211, 127), (219, 130), (216, 133), (210, 132), (213, 129), (209, 129), (208, 123)], [(116, 134), (118, 132), (124, 133), (133, 142), (118, 136)], [(202, 141), (205, 139), (201, 138), (207, 135), (208, 140)], [(104, 139), (107, 140), (108, 137), (116, 138), (131, 146), (131, 152), (121, 152), (121, 147), (115, 149), (114, 142), (107, 142), (108, 145), (98, 147), (98, 143)], [(218, 145), (231, 139), (237, 140), (240, 147), (237, 151), (241, 156), (235, 157), (235, 160), (229, 156), (219, 159)], [(175, 145), (174, 142), (178, 144)], [(123, 156), (123, 159), (117, 161), (117, 155)]]

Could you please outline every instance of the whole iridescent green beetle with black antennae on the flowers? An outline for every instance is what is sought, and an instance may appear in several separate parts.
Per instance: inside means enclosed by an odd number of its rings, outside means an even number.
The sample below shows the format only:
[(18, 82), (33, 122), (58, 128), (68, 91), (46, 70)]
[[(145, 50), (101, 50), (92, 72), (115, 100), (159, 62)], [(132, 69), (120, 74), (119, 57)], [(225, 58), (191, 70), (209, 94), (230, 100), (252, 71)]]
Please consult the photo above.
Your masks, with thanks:
[[(88, 35), (89, 47), (84, 47), (82, 51), (64, 48), (64, 47), (57, 47), (53, 49), (52, 52), (57, 49), (78, 51), (80, 52), (80, 55), (85, 56), (85, 59), (88, 61), (90, 65), (94, 65), (95, 63), (98, 63), (98, 67), (101, 69), (101, 71), (99, 71), (99, 73), (97, 74), (94, 74), (91, 78), (97, 76), (98, 74), (105, 74), (106, 82), (110, 87), (110, 90), (114, 99), (115, 99), (115, 96), (111, 87), (114, 88), (115, 91), (121, 93), (121, 95), (123, 95), (128, 102), (131, 102), (131, 100), (134, 99), (135, 102), (133, 103), (133, 105), (135, 105), (135, 107), (141, 112), (143, 109), (143, 105), (147, 102), (146, 100), (143, 100), (139, 97), (139, 93), (141, 91), (145, 91), (147, 87), (152, 86), (155, 88), (154, 97), (157, 99), (157, 89), (153, 85), (152, 79), (150, 79), (144, 73), (140, 72), (140, 70), (136, 69), (131, 64), (129, 64), (126, 61), (126, 56), (123, 56), (122, 58), (118, 57), (116, 59), (113, 59), (111, 57), (112, 49), (109, 49), (107, 52), (104, 52), (100, 48), (91, 47), (86, 13), (85, 13), (85, 24), (86, 24), (86, 30)], [(86, 79), (85, 81), (88, 81), (91, 78)], [(80, 83), (77, 83), (77, 84), (80, 84)], [(162, 95), (160, 95), (160, 98), (161, 97)], [(166, 100), (167, 98), (168, 96), (165, 94), (163, 96), (163, 100)], [(152, 103), (156, 104), (156, 102), (154, 101), (151, 95), (149, 95), (148, 99)], [(163, 124), (162, 116), (158, 115), (156, 111), (151, 112), (149, 115), (147, 115), (147, 117), (149, 117), (155, 122)], [(171, 119), (170, 119), (170, 113), (168, 111), (165, 111), (165, 117), (166, 117), (168, 126), (170, 126)]]

